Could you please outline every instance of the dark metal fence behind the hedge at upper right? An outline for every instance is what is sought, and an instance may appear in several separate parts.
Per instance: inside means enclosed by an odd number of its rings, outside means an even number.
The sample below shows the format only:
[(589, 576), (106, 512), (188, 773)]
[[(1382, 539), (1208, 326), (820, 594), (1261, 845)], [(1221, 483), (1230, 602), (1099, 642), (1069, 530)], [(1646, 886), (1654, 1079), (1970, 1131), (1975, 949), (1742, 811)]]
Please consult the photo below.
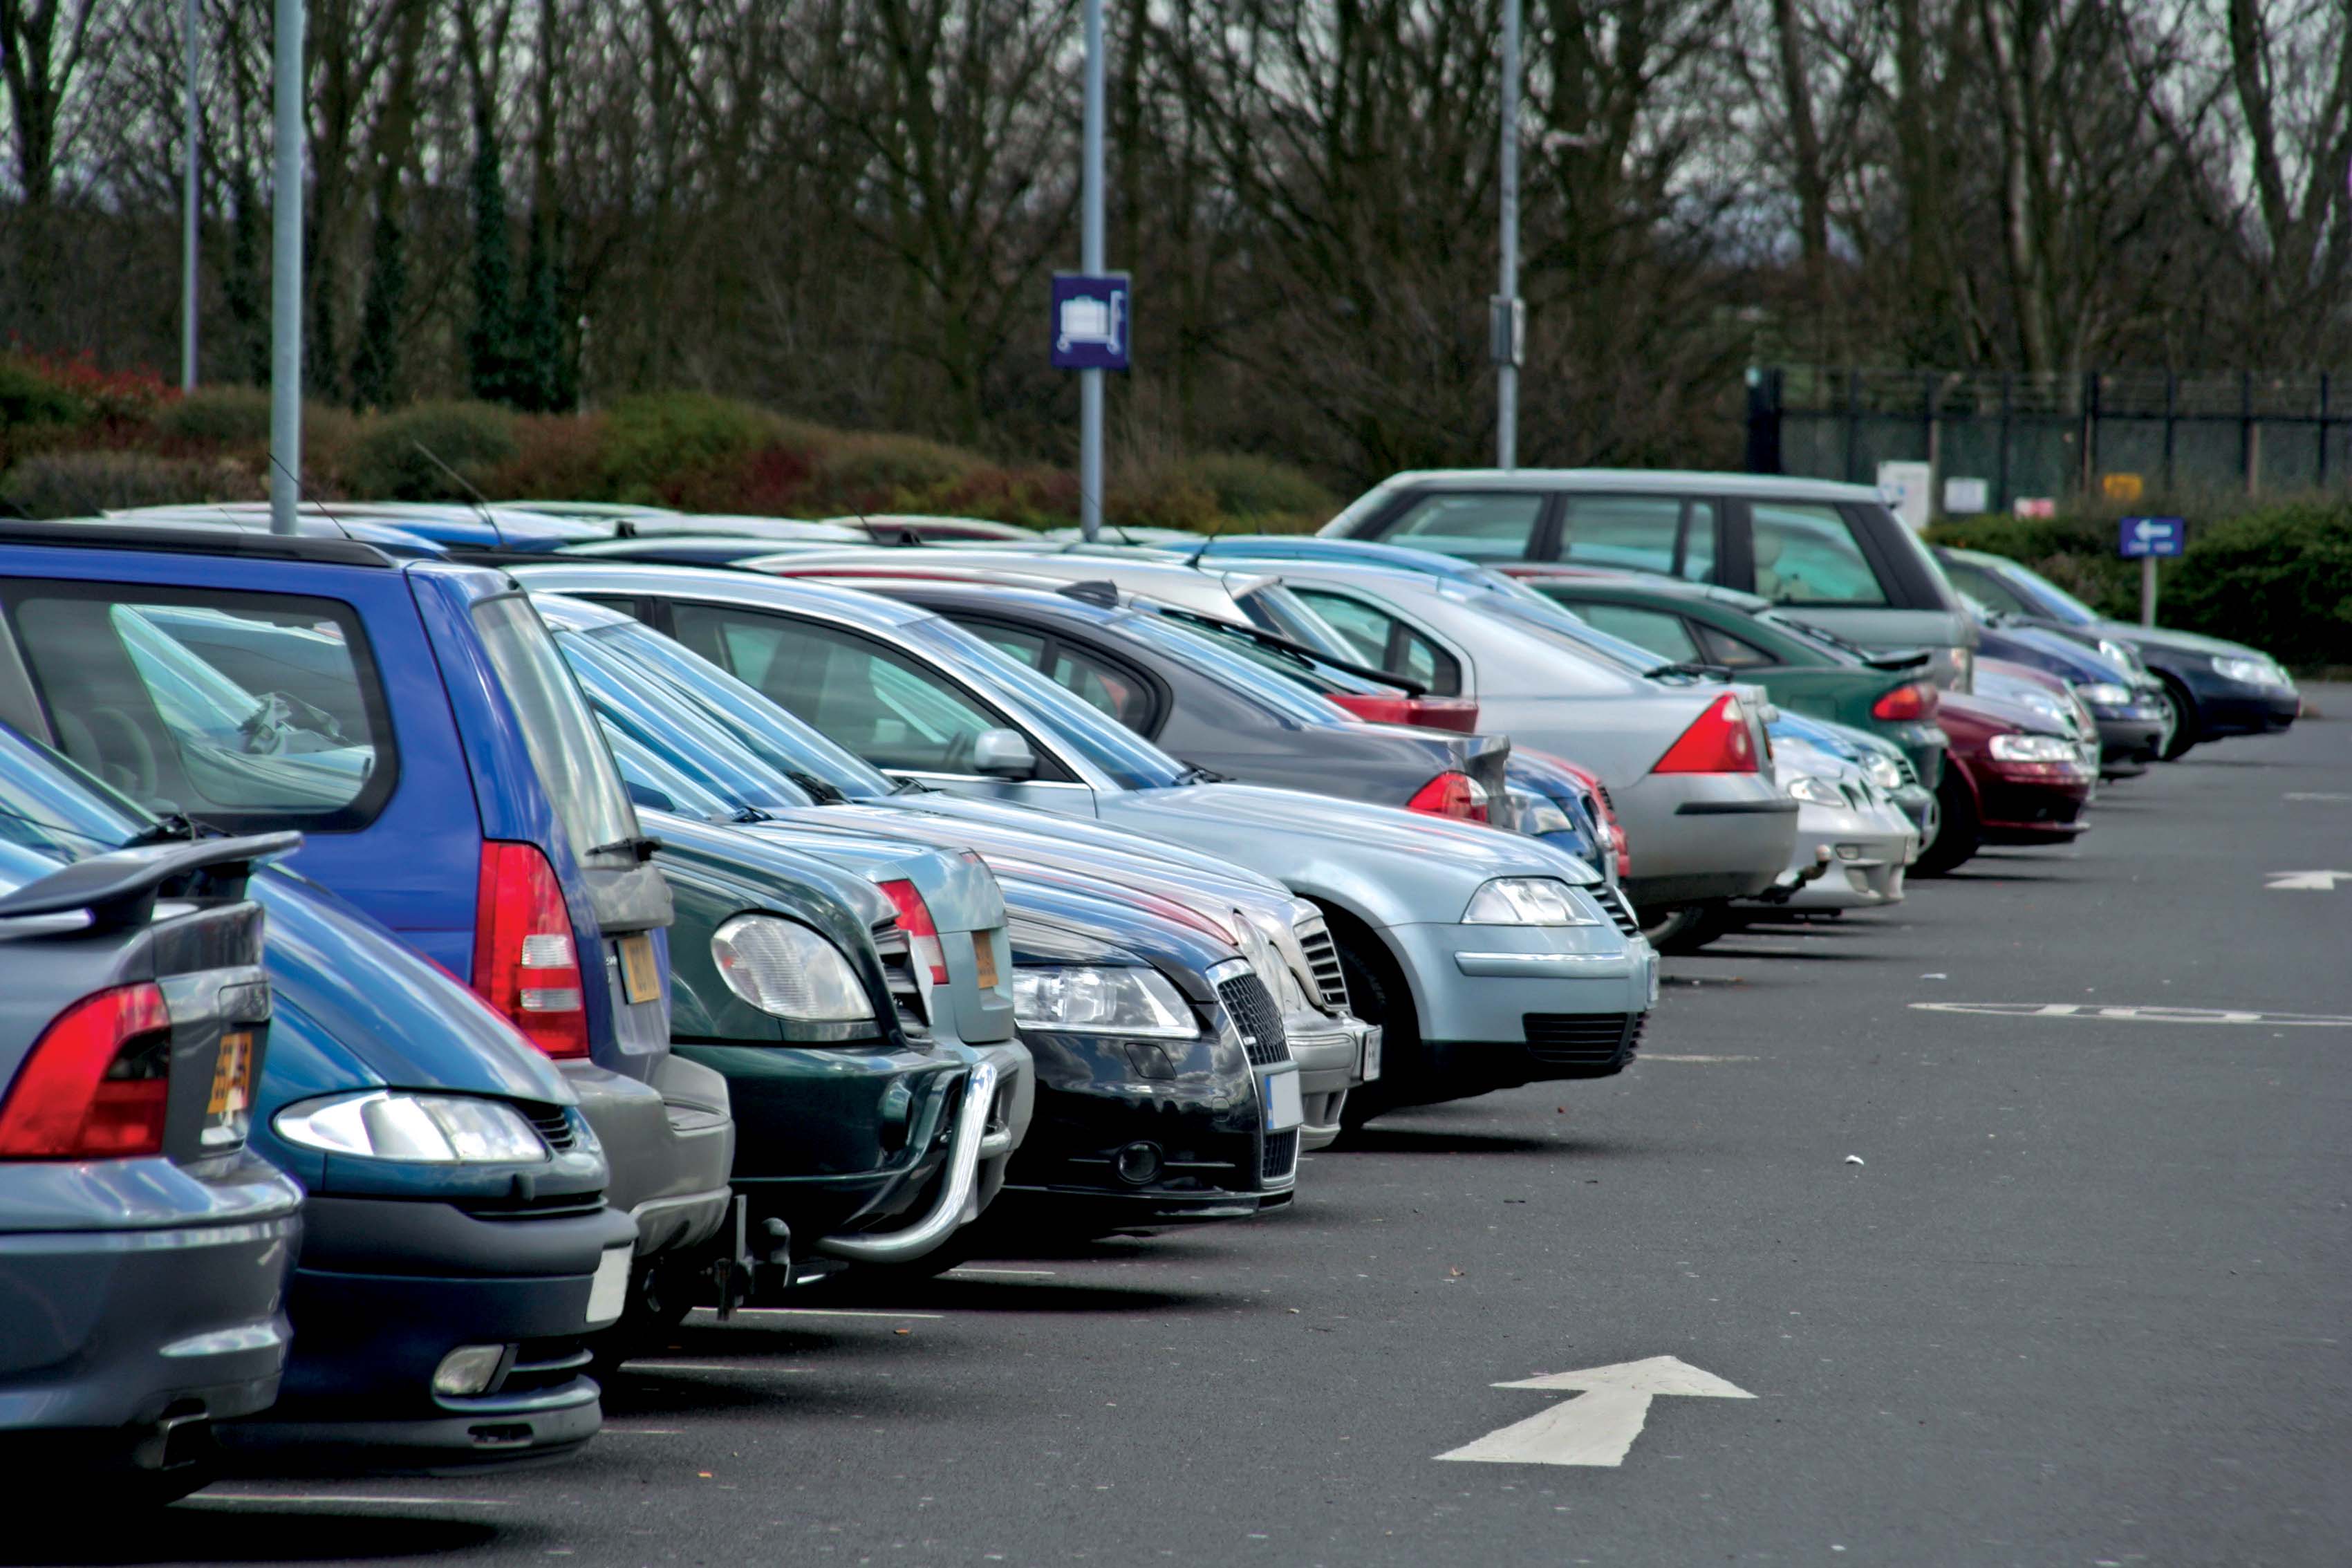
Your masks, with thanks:
[(2025, 496), (2352, 487), (2352, 376), (1748, 371), (1750, 473), (1875, 484), (1896, 461), (1929, 463), (1936, 510), (1947, 480), (1983, 480), (2002, 512)]

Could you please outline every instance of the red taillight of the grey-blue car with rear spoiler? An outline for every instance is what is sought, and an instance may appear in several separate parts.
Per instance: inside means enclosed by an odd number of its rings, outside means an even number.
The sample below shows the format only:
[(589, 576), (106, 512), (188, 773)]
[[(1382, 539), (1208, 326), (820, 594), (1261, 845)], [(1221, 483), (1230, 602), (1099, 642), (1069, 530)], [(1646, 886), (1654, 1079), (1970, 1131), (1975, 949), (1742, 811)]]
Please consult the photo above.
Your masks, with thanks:
[(0, 1100), (0, 1159), (162, 1154), (172, 1013), (153, 980), (92, 992), (49, 1020)]

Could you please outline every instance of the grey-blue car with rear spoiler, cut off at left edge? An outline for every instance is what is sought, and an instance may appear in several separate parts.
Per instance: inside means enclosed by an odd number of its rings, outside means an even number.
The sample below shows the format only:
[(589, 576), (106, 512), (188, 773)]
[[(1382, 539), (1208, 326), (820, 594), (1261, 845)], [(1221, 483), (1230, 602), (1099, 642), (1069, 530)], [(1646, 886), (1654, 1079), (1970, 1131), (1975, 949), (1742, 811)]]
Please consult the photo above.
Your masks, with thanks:
[(151, 842), (73, 795), (0, 729), (0, 1465), (136, 1507), (205, 1486), (287, 1361), (301, 1187), (249, 1145), (247, 877), (296, 839)]

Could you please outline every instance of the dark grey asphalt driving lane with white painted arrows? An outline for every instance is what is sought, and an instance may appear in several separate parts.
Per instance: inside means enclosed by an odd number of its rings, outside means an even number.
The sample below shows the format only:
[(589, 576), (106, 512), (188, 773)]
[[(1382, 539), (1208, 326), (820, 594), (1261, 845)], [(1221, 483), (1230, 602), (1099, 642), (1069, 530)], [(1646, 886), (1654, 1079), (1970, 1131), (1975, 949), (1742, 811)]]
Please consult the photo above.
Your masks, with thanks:
[(0, 1556), (2352, 1561), (2352, 686), (2310, 698), (2072, 849), (1670, 959), (1623, 1077), (1385, 1119), (1287, 1213), (699, 1316), (562, 1467)]

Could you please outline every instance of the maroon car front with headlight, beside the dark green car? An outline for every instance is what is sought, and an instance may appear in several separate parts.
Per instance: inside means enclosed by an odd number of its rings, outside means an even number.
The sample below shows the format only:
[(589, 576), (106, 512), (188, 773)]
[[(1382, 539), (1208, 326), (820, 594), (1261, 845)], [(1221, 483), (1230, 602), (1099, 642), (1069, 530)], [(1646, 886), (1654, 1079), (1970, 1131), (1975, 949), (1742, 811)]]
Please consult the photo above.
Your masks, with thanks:
[(2098, 766), (2039, 712), (1945, 691), (1936, 722), (1952, 738), (1936, 785), (1943, 830), (1915, 877), (1940, 877), (1985, 844), (2067, 844), (2091, 825), (2082, 809)]

